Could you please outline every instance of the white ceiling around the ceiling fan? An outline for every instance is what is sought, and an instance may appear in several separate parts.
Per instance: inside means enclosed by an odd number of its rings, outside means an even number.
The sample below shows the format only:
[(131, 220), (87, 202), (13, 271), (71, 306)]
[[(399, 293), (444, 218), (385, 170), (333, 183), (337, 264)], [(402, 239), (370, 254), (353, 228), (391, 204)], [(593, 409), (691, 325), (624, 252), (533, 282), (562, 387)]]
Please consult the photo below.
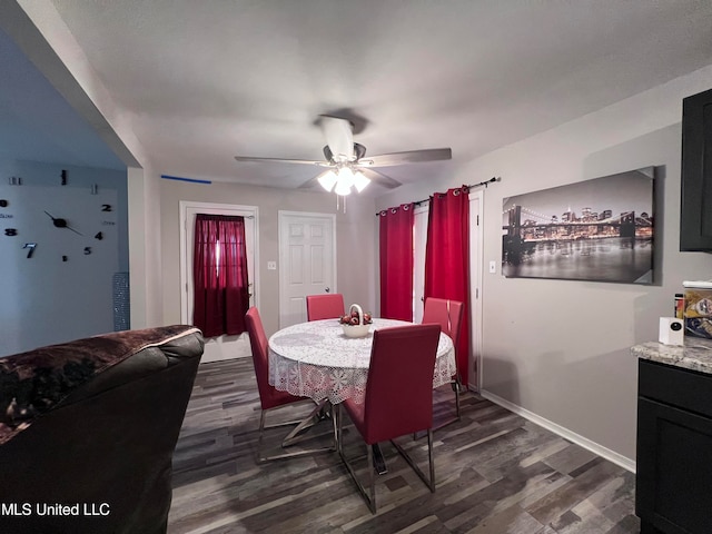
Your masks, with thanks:
[(709, 0), (52, 3), (161, 174), (244, 184), (316, 176), (234, 156), (319, 159), (319, 113), (369, 155), (452, 147), (384, 169), (409, 182), (712, 62)]

